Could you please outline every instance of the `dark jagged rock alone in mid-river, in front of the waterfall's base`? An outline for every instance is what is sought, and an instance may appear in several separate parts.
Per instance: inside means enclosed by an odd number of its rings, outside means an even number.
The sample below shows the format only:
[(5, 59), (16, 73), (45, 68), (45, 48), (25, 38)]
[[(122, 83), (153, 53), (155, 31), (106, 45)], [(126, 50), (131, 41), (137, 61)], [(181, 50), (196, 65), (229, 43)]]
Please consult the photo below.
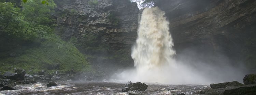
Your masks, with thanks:
[(126, 82), (122, 92), (128, 91), (145, 91), (147, 90), (147, 85), (145, 83), (136, 82), (132, 83), (131, 81)]

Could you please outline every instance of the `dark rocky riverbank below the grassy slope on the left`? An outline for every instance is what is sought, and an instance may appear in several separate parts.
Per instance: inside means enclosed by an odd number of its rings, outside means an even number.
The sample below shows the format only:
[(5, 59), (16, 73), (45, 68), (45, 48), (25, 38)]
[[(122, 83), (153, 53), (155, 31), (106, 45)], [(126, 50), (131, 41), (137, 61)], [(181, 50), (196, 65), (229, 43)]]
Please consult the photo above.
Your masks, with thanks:
[[(31, 72), (31, 71), (28, 71)], [(65, 80), (97, 80), (102, 76), (97, 76), (93, 73), (58, 73), (58, 70), (54, 74), (48, 74), (45, 70), (40, 70), (36, 74), (29, 75), (24, 69), (14, 69), (5, 73), (0, 72), (0, 89), (1, 90), (16, 90), (16, 85), (34, 84), (34, 83), (49, 83), (49, 85), (56, 86), (53, 81), (65, 81)], [(48, 86), (48, 84), (47, 84)]]

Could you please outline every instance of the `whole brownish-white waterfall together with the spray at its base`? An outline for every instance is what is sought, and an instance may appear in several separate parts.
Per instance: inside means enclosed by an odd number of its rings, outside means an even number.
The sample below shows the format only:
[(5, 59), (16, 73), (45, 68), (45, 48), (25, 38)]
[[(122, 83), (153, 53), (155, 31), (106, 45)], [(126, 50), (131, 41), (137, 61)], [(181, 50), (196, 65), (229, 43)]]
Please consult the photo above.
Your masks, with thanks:
[[(186, 58), (181, 54), (179, 59), (174, 59), (176, 53), (173, 46), (165, 12), (158, 7), (144, 9), (139, 22), (138, 38), (131, 53), (135, 68), (115, 74), (112, 79), (120, 82), (210, 84), (239, 80), (239, 77), (244, 76), (239, 68), (225, 65), (228, 62), (224, 57), (212, 59), (224, 65), (209, 65), (201, 60), (191, 60), (196, 56)], [(189, 55), (189, 52), (184, 54)]]

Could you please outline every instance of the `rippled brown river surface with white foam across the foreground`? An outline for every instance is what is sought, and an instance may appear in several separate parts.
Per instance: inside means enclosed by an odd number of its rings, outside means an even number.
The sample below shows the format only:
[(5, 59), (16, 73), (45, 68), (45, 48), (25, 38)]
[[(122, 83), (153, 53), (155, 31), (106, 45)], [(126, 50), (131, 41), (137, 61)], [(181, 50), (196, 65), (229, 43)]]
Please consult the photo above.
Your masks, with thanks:
[[(125, 83), (65, 81), (57, 82), (56, 87), (46, 87), (45, 83), (17, 85), (18, 90), (0, 91), (5, 95), (128, 95), (134, 92), (121, 92)], [(148, 84), (146, 95), (172, 95), (178, 93), (193, 94), (208, 88), (208, 85), (162, 85)], [(0, 94), (1, 95), (1, 94)]]

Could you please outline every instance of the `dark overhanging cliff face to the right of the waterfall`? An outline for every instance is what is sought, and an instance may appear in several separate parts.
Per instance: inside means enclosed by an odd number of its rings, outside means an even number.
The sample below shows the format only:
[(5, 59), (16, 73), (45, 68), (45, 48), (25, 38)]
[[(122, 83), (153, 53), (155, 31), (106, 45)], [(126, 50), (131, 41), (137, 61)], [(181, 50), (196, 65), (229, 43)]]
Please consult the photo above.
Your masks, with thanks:
[(170, 20), (177, 54), (194, 48), (255, 62), (255, 0), (159, 0), (156, 6)]

